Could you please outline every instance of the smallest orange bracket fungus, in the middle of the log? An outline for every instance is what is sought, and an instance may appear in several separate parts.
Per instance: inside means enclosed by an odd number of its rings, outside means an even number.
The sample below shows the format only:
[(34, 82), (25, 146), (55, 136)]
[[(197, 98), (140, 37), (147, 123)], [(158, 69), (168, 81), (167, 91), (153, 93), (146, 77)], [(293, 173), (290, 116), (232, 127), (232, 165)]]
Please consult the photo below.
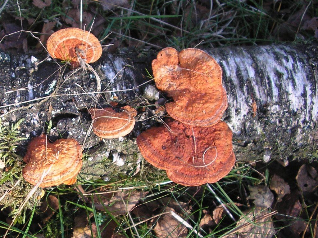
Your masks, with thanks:
[(125, 106), (123, 111), (116, 112), (113, 108), (89, 110), (93, 122), (93, 132), (96, 136), (106, 139), (126, 136), (134, 129), (136, 116), (135, 109)]

